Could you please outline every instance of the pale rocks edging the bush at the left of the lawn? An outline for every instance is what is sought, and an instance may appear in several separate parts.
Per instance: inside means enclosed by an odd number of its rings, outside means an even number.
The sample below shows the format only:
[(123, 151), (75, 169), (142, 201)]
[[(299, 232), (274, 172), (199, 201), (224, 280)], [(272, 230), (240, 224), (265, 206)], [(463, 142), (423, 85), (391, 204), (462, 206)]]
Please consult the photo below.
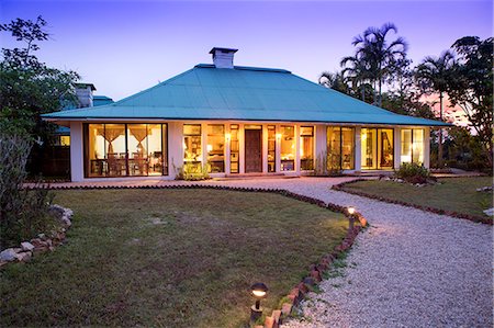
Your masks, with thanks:
[(52, 231), (49, 236), (45, 234), (37, 235), (36, 238), (21, 242), (20, 247), (7, 248), (0, 252), (0, 269), (8, 263), (27, 262), (34, 255), (45, 251), (53, 251), (55, 247), (61, 245), (66, 239), (66, 231), (72, 225), (72, 210), (60, 205), (49, 206), (49, 212), (59, 216), (60, 226)]

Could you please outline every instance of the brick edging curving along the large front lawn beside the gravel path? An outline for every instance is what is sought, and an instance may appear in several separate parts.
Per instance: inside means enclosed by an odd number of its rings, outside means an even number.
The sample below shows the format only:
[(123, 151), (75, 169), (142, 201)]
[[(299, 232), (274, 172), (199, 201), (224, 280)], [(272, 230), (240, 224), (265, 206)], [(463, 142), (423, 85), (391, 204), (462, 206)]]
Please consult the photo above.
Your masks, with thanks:
[[(361, 179), (366, 180), (366, 179)], [(239, 191), (239, 192), (269, 192), (277, 193), (290, 199), (294, 199), (296, 201), (306, 202), (310, 204), (317, 205), (323, 208), (327, 208), (332, 212), (343, 213), (346, 217), (348, 217), (349, 223), (351, 216), (347, 212), (347, 207), (327, 203), (317, 200), (314, 197), (301, 195), (284, 189), (269, 189), (269, 188), (245, 188), (245, 186), (229, 186), (229, 185), (207, 185), (207, 184), (164, 184), (164, 185), (44, 185), (44, 188), (55, 189), (55, 190), (104, 190), (104, 189), (211, 189), (211, 190), (228, 190), (228, 191)], [(339, 245), (337, 245), (330, 253), (324, 256), (318, 263), (311, 264), (308, 267), (308, 275), (302, 279), (300, 283), (297, 283), (290, 294), (287, 295), (287, 298), (290, 299), (288, 303), (283, 303), (281, 309), (274, 309), (271, 316), (267, 316), (265, 318), (265, 326), (256, 326), (256, 328), (278, 328), (282, 324), (282, 321), (289, 318), (292, 314), (294, 307), (296, 307), (300, 302), (305, 297), (311, 290), (311, 287), (317, 285), (323, 280), (323, 273), (327, 272), (330, 268), (330, 264), (334, 260), (338, 258), (339, 255), (347, 251), (352, 245), (360, 233), (360, 230), (367, 227), (367, 219), (360, 213), (356, 212), (353, 214), (353, 218), (358, 225), (353, 226), (352, 229), (348, 229), (346, 237), (341, 240)], [(284, 297), (282, 297), (284, 298)]]

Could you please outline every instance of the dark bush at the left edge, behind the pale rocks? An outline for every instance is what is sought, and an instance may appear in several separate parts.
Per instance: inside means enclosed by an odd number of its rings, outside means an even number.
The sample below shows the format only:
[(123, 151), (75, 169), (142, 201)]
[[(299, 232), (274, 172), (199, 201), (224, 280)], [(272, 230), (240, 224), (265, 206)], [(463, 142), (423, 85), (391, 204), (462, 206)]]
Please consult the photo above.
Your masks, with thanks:
[(16, 246), (55, 223), (48, 208), (53, 200), (46, 189), (23, 189), (31, 142), (19, 135), (0, 133), (0, 249)]

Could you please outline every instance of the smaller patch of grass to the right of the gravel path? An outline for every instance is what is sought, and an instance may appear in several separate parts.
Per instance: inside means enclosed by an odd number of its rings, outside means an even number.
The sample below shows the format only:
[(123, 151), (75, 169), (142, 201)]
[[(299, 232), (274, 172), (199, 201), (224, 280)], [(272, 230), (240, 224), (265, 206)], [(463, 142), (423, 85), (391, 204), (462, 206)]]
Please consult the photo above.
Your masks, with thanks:
[(446, 178), (438, 181), (440, 184), (427, 186), (382, 180), (358, 181), (346, 184), (344, 190), (476, 216), (486, 216), (482, 211), (492, 207), (492, 192), (476, 191), (478, 188), (492, 185), (492, 177)]

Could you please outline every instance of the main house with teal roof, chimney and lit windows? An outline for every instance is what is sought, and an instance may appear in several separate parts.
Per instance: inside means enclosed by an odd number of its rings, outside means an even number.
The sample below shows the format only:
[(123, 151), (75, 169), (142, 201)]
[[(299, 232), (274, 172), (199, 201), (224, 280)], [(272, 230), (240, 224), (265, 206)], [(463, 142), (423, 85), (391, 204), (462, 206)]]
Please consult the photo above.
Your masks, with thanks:
[[(126, 99), (44, 120), (70, 127), (71, 180), (385, 171), (429, 166), (429, 128), (284, 69), (234, 66), (237, 49)], [(131, 178), (127, 178), (131, 179)]]

